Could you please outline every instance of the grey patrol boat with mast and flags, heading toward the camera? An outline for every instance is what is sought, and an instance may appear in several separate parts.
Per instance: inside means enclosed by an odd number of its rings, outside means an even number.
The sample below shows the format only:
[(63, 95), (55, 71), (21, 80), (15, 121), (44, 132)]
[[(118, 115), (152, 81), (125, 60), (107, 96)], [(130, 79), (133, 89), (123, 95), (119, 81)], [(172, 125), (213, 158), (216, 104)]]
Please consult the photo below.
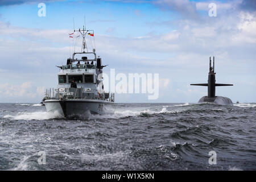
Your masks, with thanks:
[[(83, 27), (74, 30), (75, 33), (82, 37), (81, 52), (74, 51), (67, 64), (56, 66), (60, 68), (57, 74), (59, 84), (56, 89), (46, 90), (43, 104), (48, 112), (57, 111), (67, 118), (113, 113), (114, 93), (104, 91), (102, 69), (106, 65), (102, 65), (95, 48), (88, 52), (86, 46), (85, 36), (94, 36), (94, 31)], [(80, 56), (80, 59), (75, 56)]]

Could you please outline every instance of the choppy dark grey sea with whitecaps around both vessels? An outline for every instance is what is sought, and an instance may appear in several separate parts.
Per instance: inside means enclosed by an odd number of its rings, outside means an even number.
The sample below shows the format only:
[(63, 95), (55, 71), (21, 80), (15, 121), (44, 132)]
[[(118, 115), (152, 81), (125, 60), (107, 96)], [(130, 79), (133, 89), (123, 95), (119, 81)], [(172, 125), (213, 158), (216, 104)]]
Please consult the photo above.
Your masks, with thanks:
[(256, 104), (115, 104), (63, 118), (0, 104), (0, 170), (255, 170)]

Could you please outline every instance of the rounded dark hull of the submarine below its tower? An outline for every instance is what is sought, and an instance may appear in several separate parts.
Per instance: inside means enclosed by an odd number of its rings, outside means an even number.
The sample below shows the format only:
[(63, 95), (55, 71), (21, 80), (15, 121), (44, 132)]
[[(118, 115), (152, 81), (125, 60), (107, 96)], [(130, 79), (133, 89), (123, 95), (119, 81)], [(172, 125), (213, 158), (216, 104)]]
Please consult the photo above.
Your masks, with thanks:
[(217, 105), (231, 105), (233, 106), (233, 102), (228, 97), (222, 97), (222, 96), (215, 96), (215, 97), (208, 97), (204, 96), (200, 98), (198, 103), (213, 103)]

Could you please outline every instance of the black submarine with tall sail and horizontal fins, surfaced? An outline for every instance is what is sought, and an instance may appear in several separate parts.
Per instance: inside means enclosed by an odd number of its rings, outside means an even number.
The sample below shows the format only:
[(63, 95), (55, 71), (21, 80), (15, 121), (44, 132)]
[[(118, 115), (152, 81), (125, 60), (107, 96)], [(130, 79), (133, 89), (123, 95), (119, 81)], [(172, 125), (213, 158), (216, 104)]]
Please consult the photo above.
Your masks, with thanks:
[(217, 105), (233, 105), (233, 102), (228, 97), (215, 96), (215, 87), (216, 86), (233, 86), (233, 84), (216, 84), (214, 73), (214, 56), (213, 56), (213, 67), (212, 60), (210, 60), (210, 68), (208, 74), (208, 83), (207, 84), (190, 84), (196, 86), (208, 86), (208, 96), (200, 98), (198, 103), (213, 103)]

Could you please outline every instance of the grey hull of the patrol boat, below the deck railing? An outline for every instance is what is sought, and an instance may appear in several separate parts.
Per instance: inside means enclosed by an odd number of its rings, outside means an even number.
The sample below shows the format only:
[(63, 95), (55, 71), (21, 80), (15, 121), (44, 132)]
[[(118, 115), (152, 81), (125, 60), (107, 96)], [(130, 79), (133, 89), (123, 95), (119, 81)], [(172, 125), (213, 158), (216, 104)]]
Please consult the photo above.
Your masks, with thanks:
[(114, 103), (102, 100), (46, 100), (48, 112), (58, 112), (67, 118), (89, 118), (91, 114), (113, 114)]

